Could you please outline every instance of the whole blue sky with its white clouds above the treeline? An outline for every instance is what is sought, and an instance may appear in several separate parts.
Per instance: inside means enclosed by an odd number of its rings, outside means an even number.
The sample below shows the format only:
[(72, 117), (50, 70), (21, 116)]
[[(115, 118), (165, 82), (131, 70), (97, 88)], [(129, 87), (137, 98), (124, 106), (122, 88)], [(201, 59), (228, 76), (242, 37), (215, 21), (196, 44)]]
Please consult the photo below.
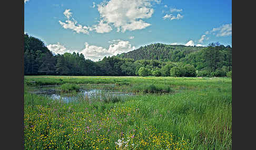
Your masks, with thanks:
[(159, 42), (232, 47), (232, 1), (24, 0), (24, 33), (93, 61)]

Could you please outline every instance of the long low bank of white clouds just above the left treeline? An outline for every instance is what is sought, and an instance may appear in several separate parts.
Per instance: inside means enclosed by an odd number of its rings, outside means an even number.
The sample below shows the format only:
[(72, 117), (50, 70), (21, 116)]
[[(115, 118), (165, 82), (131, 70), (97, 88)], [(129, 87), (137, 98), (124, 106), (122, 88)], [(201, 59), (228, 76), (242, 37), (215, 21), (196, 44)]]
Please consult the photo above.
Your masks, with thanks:
[(57, 44), (50, 44), (47, 46), (47, 48), (54, 53), (60, 53), (60, 54), (63, 54), (65, 52), (83, 53), (85, 59), (91, 59), (93, 61), (102, 59), (105, 56), (106, 57), (114, 56), (114, 55), (117, 55), (117, 53), (120, 54), (123, 52), (129, 52), (135, 49), (135, 47), (132, 46), (129, 41), (123, 41), (123, 40), (117, 39), (109, 42), (111, 44), (108, 49), (100, 46), (89, 45), (87, 42), (85, 42), (84, 44), (85, 48), (82, 50), (67, 49), (66, 47), (61, 45), (59, 42), (57, 42)]

